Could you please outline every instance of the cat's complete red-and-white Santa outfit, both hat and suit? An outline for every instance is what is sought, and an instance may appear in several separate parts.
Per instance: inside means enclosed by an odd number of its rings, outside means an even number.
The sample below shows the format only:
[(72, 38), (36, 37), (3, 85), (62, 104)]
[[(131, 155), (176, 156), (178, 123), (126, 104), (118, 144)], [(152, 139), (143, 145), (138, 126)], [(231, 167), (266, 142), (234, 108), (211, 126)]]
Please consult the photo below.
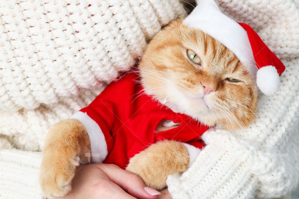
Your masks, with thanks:
[[(244, 64), (264, 94), (275, 94), (279, 89), (279, 75), (285, 66), (259, 35), (249, 25), (237, 23), (222, 14), (214, 0), (197, 3), (183, 24), (202, 30), (220, 41)], [(208, 127), (186, 115), (174, 113), (143, 94), (137, 79), (138, 76), (131, 73), (121, 81), (111, 83), (93, 103), (73, 116), (87, 129), (91, 151), (94, 153), (93, 162), (104, 161), (125, 168), (135, 154), (164, 139), (202, 148), (200, 135)], [(158, 123), (163, 120), (181, 124), (169, 131), (155, 133)], [(194, 152), (196, 148), (191, 145), (186, 146), (192, 160), (194, 157), (190, 151)]]

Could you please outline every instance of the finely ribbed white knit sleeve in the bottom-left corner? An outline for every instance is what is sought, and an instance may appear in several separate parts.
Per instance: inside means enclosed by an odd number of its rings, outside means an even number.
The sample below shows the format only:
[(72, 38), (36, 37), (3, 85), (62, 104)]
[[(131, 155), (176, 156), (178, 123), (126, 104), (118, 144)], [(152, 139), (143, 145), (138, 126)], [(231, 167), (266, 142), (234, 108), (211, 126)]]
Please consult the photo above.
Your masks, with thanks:
[(0, 198), (41, 198), (41, 153), (0, 150)]

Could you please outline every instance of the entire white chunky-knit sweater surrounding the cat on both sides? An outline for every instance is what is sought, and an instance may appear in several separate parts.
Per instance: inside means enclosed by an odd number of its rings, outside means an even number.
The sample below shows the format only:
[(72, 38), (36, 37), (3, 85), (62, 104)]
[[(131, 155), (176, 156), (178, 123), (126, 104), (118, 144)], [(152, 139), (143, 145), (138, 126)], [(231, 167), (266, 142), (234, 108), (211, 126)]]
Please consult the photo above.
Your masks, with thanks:
[[(178, 0), (69, 2), (0, 1), (0, 198), (39, 198), (41, 155), (27, 151), (39, 151), (50, 125), (134, 64), (161, 25), (185, 15)], [(280, 197), (299, 179), (299, 2), (219, 2), (287, 69), (278, 94), (259, 97), (255, 122), (206, 132), (207, 146), (168, 188), (175, 199)]]

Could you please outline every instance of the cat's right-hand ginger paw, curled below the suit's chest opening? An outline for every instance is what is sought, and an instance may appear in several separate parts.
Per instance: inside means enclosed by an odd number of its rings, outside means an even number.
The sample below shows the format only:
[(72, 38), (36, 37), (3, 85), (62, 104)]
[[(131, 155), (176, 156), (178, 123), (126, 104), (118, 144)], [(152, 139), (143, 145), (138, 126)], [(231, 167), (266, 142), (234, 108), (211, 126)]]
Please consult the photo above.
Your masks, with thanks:
[(139, 175), (146, 186), (166, 187), (168, 175), (184, 172), (189, 165), (187, 148), (177, 141), (159, 141), (130, 159), (126, 170)]

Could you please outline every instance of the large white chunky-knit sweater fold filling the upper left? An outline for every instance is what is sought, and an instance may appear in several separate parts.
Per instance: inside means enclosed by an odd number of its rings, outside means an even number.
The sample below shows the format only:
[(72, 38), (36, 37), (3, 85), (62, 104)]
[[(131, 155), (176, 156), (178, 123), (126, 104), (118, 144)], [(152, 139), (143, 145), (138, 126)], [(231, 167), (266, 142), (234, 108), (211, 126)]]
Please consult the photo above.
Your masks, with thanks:
[(54, 106), (114, 80), (161, 26), (185, 15), (179, 0), (2, 0), (0, 110)]

